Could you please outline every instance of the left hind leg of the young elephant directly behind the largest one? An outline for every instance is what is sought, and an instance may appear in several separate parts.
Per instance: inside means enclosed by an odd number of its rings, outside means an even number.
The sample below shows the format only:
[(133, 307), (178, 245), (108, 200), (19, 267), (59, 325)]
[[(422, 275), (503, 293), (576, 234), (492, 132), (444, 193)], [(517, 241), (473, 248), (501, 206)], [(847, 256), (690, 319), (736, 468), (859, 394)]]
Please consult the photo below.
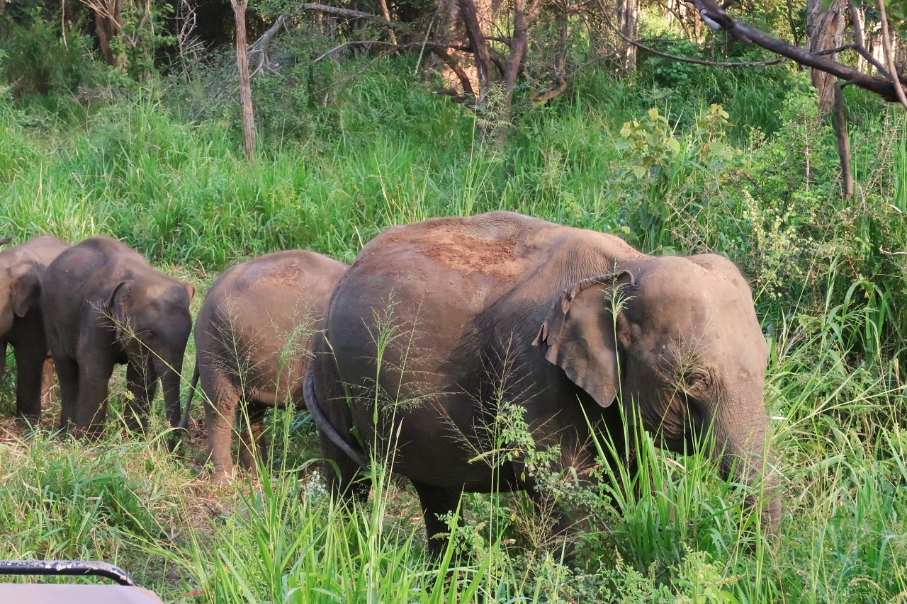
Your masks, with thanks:
[(200, 375), (204, 395), (205, 432), (208, 453), (214, 464), (211, 481), (220, 482), (233, 475), (230, 443), (233, 440), (233, 416), (239, 403), (239, 390), (220, 372), (203, 370)]

